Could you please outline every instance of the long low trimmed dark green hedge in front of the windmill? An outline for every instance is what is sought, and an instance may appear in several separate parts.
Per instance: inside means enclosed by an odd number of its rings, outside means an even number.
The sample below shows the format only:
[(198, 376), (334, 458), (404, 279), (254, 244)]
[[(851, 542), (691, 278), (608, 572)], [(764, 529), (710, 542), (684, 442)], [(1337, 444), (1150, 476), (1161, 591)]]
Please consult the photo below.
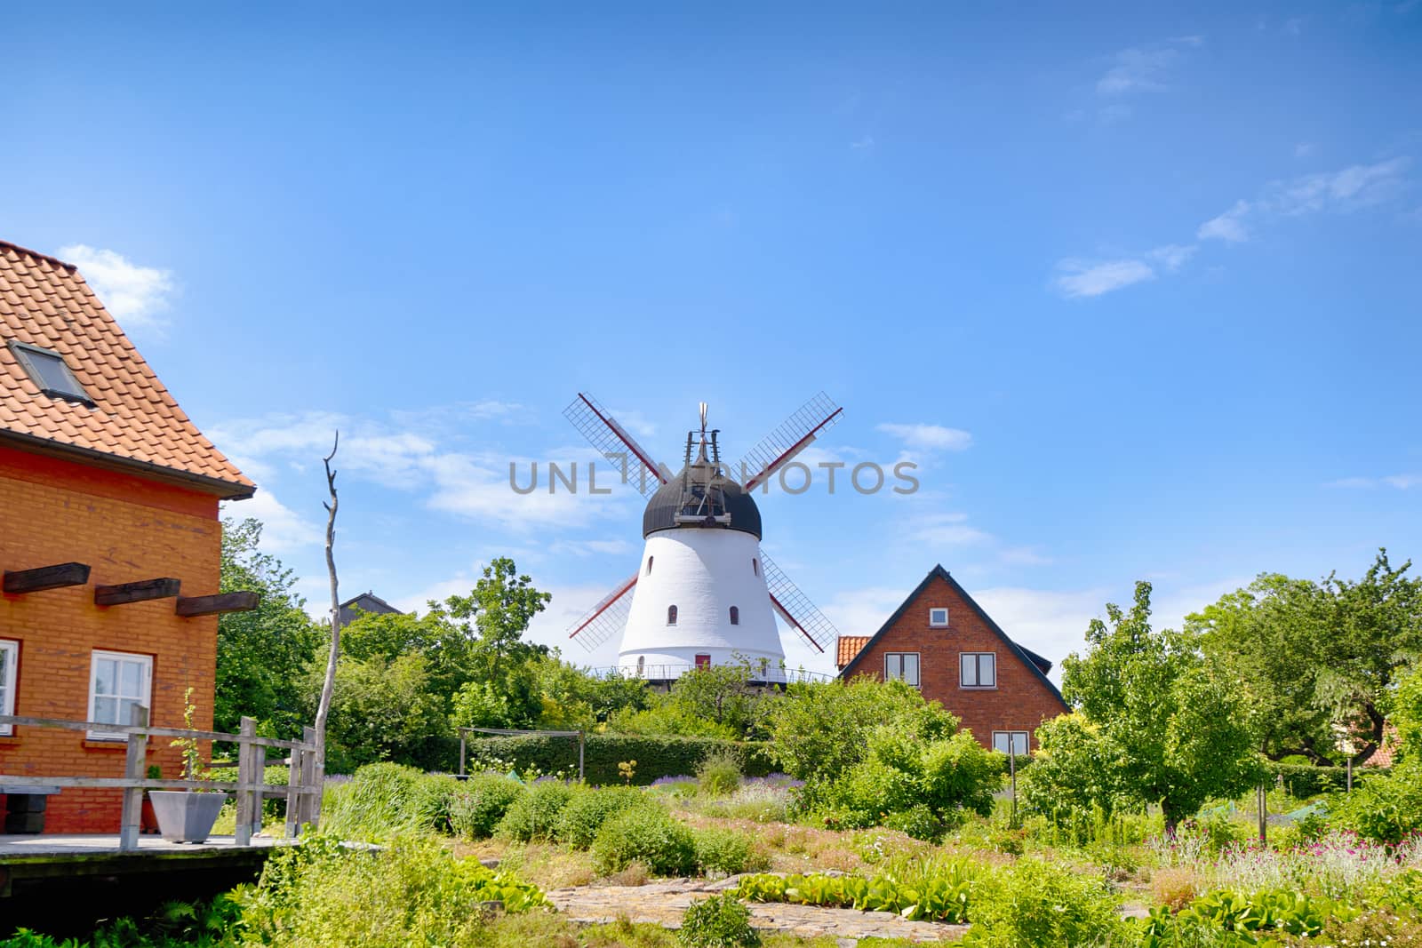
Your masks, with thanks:
[[(621, 783), (617, 765), (623, 760), (636, 760), (633, 783), (646, 786), (657, 777), (690, 776), (697, 772), (701, 760), (717, 750), (739, 755), (745, 762), (745, 775), (751, 777), (764, 777), (778, 769), (769, 745), (757, 740), (590, 733), (583, 753), (583, 772), (593, 786)], [(577, 738), (516, 735), (469, 742), (471, 770), (489, 759), (512, 763), (519, 770), (536, 766), (543, 773), (572, 770), (576, 775)]]

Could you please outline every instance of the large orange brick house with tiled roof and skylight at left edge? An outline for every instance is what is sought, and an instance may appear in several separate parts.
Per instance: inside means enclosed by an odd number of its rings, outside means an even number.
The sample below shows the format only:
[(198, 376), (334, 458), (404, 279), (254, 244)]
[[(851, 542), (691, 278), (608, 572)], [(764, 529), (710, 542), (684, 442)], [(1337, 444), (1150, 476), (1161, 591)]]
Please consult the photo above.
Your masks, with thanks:
[[(249, 596), (218, 596), (218, 502), (253, 490), (75, 267), (0, 242), (0, 713), (128, 723), (137, 704), (181, 728), (192, 686), (195, 726), (210, 729), (216, 613)], [(124, 746), (0, 725), (0, 787), (122, 776)], [(168, 740), (148, 755), (179, 776)], [(44, 830), (114, 833), (119, 810), (119, 790), (65, 789)]]

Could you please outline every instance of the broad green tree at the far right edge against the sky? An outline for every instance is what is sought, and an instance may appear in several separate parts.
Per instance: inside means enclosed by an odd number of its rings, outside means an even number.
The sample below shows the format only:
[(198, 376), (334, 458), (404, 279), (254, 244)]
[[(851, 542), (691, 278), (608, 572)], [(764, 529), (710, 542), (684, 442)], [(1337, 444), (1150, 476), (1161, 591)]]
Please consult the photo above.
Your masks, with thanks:
[(1354, 745), (1354, 763), (1382, 743), (1394, 684), (1422, 655), (1422, 578), (1379, 550), (1361, 580), (1320, 583), (1263, 574), (1189, 617), (1204, 651), (1240, 679), (1274, 758), (1315, 763)]

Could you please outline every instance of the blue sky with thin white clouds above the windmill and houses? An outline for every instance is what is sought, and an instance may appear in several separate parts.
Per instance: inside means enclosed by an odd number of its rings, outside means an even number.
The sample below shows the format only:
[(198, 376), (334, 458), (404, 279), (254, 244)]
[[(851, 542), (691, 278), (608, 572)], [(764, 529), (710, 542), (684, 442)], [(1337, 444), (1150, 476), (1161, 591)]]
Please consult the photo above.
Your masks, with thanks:
[(508, 489), (586, 463), (580, 389), (663, 458), (823, 389), (812, 463), (914, 460), (762, 502), (843, 632), (943, 563), (1059, 661), (1136, 578), (1173, 623), (1422, 553), (1418, 0), (27, 4), (0, 70), (0, 237), (81, 264), (314, 608), (340, 426), (346, 594), (510, 554), (557, 642), (641, 544), (630, 490)]

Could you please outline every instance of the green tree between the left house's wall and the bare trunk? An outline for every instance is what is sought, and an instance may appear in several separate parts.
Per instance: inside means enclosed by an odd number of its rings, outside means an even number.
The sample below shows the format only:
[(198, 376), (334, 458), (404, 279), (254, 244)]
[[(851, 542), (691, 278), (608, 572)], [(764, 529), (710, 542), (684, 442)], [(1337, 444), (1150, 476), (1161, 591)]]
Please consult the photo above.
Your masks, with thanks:
[(223, 593), (262, 596), (249, 613), (218, 618), (218, 677), (213, 726), (235, 732), (243, 715), (273, 736), (300, 738), (310, 723), (301, 696), (306, 665), (324, 632), (293, 593), (296, 576), (262, 551), (262, 523), (252, 517), (222, 522)]

